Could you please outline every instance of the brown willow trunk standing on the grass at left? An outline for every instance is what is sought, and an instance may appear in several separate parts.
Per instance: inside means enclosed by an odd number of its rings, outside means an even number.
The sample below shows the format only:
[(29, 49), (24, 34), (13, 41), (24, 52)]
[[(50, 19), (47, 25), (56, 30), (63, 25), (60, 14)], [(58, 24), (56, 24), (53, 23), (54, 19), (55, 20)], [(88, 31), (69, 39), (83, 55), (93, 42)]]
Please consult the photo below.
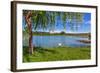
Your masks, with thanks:
[(29, 30), (29, 54), (33, 54), (33, 43), (32, 43), (32, 20), (31, 20), (32, 12), (28, 11), (26, 14), (26, 23)]

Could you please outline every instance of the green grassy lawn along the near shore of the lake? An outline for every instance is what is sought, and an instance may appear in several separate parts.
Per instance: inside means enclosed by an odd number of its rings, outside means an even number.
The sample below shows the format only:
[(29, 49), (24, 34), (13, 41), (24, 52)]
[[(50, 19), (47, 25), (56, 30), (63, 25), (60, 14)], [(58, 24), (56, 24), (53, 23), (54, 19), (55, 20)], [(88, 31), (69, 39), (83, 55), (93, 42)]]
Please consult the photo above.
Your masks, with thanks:
[(28, 47), (23, 47), (23, 62), (84, 60), (91, 58), (90, 47), (35, 47), (34, 54), (28, 54)]

